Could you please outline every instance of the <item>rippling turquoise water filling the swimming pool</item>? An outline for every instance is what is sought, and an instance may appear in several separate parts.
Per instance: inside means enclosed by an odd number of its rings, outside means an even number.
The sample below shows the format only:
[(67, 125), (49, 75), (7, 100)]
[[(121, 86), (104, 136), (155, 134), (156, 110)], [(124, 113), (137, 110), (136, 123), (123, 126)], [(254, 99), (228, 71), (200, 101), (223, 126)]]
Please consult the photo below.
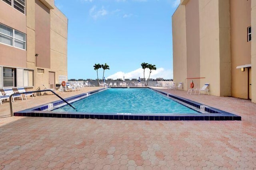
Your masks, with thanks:
[[(148, 88), (110, 88), (72, 103), (78, 112), (85, 113), (132, 113), (132, 114), (197, 114), (170, 98)], [(74, 112), (63, 106), (55, 112)]]

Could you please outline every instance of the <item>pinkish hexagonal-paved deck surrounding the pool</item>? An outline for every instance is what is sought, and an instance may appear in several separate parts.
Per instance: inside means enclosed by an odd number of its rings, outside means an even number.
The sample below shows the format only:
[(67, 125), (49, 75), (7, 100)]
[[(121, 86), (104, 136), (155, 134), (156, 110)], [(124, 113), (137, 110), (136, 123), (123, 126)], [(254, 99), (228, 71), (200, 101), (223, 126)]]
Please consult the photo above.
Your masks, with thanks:
[[(61, 92), (63, 98), (97, 89)], [(159, 88), (158, 88), (159, 89)], [(254, 170), (256, 104), (165, 92), (242, 116), (242, 121), (141, 121), (10, 117), (0, 105), (0, 170)], [(58, 100), (37, 96), (14, 112)]]

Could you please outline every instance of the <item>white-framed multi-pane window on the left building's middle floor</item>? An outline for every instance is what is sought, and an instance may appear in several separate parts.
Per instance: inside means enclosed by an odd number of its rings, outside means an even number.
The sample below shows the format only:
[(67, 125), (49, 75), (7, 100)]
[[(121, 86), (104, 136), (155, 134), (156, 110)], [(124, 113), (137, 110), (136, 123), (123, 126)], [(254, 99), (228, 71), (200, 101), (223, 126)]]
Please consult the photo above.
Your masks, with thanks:
[(0, 24), (0, 43), (26, 50), (26, 34)]

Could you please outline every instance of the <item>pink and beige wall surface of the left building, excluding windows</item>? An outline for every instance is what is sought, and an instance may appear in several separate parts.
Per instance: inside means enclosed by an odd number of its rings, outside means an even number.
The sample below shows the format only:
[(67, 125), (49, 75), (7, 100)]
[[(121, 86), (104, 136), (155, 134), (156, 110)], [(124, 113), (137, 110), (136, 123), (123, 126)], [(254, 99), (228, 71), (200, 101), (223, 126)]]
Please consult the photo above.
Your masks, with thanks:
[[(55, 74), (55, 84), (58, 76), (67, 76), (68, 19), (54, 0), (27, 0), (26, 15), (0, 0), (0, 16), (0, 23), (26, 34), (27, 47), (21, 50), (0, 44), (0, 66), (33, 70), (33, 86), (25, 87), (30, 90), (44, 89), (42, 84), (50, 88), (49, 72)], [(37, 60), (35, 54), (41, 58)], [(37, 73), (38, 68), (44, 73)]]

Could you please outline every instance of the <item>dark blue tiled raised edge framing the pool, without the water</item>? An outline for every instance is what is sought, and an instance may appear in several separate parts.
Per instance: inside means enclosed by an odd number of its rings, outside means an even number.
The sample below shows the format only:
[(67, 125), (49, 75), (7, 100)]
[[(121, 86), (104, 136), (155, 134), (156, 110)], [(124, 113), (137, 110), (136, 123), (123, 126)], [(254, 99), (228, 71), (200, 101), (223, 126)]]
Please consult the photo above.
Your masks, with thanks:
[[(127, 87), (119, 87), (119, 88), (127, 88)], [(101, 89), (93, 90), (87, 93), (78, 94), (76, 96), (65, 98), (65, 100), (68, 102), (69, 101), (74, 102), (75, 100), (80, 100), (81, 98), (85, 98), (87, 96), (90, 96), (91, 94), (101, 92), (106, 89), (107, 88), (101, 88)], [(51, 108), (58, 106), (60, 104), (64, 104), (62, 100), (57, 100), (48, 104), (14, 112), (14, 116), (93, 118), (93, 119), (96, 118), (96, 119), (109, 119), (109, 120), (242, 120), (241, 116), (238, 116), (229, 112), (225, 112), (223, 110), (219, 110), (217, 108), (213, 108), (198, 102), (194, 102), (192, 100), (182, 98), (180, 96), (175, 96), (173, 94), (162, 92), (161, 90), (156, 90), (154, 88), (150, 88), (150, 89), (160, 94), (166, 95), (170, 98), (174, 98), (175, 100), (179, 100), (181, 102), (194, 106), (198, 109), (204, 109), (208, 113), (145, 115), (145, 114), (127, 114), (127, 113), (112, 113), (112, 114), (93, 113), (92, 114), (92, 113), (84, 113), (84, 112), (52, 112), (50, 111)]]

